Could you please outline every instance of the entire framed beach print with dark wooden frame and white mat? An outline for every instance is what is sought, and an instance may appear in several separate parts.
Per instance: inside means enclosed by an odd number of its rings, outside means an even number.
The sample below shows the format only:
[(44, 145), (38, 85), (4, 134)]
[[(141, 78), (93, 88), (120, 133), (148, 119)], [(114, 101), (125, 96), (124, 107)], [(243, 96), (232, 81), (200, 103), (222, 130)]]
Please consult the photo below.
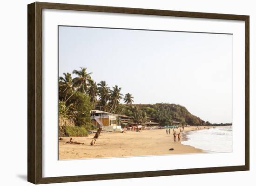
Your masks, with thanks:
[(249, 16), (29, 4), (27, 153), (34, 184), (249, 170)]

